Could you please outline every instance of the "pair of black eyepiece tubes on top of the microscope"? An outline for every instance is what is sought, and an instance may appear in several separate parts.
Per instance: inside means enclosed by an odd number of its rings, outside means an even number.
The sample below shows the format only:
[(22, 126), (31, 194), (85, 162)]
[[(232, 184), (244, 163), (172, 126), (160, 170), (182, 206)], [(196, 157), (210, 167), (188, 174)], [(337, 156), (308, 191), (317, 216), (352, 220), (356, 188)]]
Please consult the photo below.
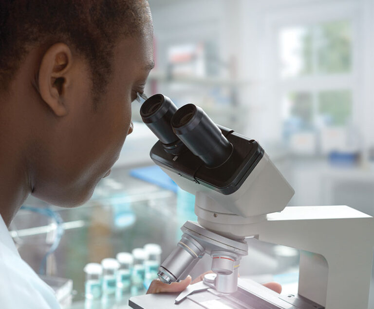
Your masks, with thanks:
[(170, 154), (179, 155), (187, 147), (207, 167), (214, 168), (222, 165), (232, 153), (232, 144), (194, 104), (177, 109), (170, 98), (158, 94), (143, 103), (140, 115)]

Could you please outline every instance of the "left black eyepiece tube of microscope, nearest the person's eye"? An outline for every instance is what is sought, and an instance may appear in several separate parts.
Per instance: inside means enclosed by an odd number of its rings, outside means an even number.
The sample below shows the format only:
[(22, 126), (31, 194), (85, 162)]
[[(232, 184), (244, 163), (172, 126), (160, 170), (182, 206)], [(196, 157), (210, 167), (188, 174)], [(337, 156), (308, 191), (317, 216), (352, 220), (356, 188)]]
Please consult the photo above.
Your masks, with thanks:
[(171, 117), (177, 107), (170, 98), (158, 94), (149, 97), (140, 108), (143, 122), (163, 143), (165, 151), (177, 155), (184, 149), (184, 144), (179, 140), (171, 128)]

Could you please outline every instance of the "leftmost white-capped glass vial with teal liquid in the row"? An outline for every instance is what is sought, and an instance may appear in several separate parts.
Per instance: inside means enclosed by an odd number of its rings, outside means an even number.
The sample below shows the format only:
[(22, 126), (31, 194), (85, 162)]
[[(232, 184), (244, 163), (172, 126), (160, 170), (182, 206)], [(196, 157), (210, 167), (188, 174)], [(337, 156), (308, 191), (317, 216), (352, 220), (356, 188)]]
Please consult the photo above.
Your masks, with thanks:
[(100, 298), (103, 272), (101, 265), (98, 263), (88, 263), (83, 271), (86, 273), (84, 284), (85, 297), (87, 299)]

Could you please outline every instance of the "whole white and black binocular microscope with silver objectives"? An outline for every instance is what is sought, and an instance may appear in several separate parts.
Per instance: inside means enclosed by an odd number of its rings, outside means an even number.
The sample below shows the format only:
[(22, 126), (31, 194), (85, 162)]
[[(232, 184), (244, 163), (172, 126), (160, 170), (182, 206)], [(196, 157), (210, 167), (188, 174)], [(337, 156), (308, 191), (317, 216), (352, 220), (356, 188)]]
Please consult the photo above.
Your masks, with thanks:
[[(205, 254), (213, 273), (181, 293), (131, 297), (131, 308), (374, 308), (372, 216), (347, 206), (286, 207), (294, 190), (261, 145), (216, 125), (198, 106), (177, 109), (158, 94), (140, 114), (159, 138), (152, 160), (196, 197), (198, 222), (182, 226), (158, 276), (168, 284), (185, 279)], [(295, 295), (238, 278), (247, 237), (300, 251)]]

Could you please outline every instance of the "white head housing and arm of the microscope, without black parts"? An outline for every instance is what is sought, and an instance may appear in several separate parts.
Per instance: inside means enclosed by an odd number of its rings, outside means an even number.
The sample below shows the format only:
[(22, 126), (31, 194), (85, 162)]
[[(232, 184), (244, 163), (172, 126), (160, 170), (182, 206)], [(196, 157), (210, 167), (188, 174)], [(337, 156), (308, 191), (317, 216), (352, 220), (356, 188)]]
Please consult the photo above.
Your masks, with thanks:
[(299, 249), (299, 295), (326, 309), (374, 308), (368, 307), (374, 251), (370, 215), (347, 206), (284, 207), (294, 192), (267, 155), (231, 195), (164, 171), (195, 194), (195, 213), (207, 230)]

